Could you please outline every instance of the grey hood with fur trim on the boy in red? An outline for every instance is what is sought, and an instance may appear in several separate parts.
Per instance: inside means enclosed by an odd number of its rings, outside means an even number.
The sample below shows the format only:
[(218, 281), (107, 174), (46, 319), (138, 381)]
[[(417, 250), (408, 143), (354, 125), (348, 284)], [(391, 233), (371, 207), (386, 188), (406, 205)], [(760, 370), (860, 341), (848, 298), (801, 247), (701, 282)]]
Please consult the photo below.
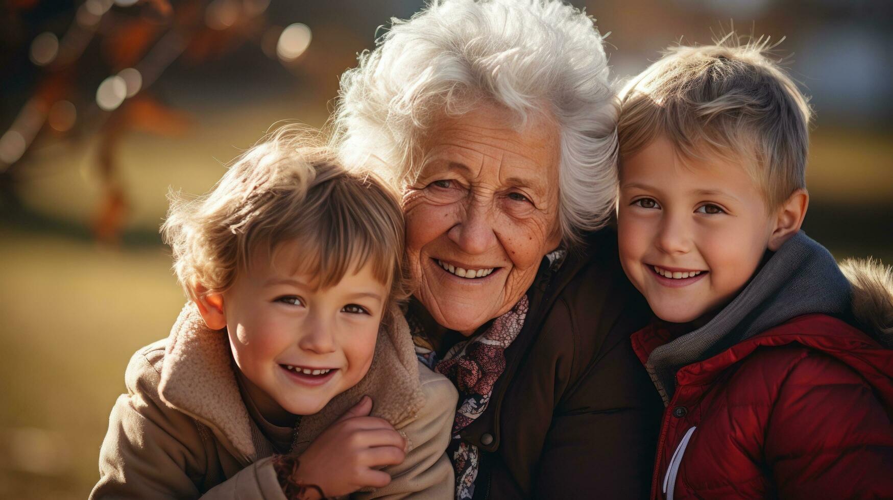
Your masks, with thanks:
[[(853, 280), (852, 286), (847, 278)], [(770, 254), (747, 286), (712, 320), (651, 351), (646, 368), (666, 403), (672, 399), (680, 368), (812, 313), (855, 318), (865, 333), (889, 347), (891, 297), (889, 270), (873, 262), (847, 262), (842, 271), (828, 250), (799, 231)]]

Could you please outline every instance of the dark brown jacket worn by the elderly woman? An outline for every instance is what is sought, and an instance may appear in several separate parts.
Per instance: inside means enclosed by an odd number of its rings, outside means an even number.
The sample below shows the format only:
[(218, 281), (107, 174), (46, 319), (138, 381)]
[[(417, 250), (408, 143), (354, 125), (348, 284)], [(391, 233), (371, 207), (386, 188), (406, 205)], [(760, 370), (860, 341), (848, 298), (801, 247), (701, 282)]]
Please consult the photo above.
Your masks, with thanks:
[(663, 403), (632, 350), (650, 319), (604, 229), (547, 283), (487, 410), (461, 435), (480, 447), (474, 498), (647, 498)]

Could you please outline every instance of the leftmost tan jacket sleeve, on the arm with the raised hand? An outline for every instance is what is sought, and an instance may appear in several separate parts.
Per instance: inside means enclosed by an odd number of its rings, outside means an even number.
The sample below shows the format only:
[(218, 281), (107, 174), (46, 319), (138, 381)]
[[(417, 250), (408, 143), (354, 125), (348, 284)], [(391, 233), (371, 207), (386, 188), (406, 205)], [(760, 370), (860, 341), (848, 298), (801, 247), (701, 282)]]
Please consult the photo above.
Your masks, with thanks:
[[(128, 394), (118, 397), (99, 452), (99, 482), (90, 498), (269, 498), (285, 500), (272, 465), (255, 462), (203, 496), (208, 451), (197, 422), (163, 404), (160, 376), (140, 351), (130, 359)], [(207, 437), (204, 437), (205, 439)], [(220, 479), (224, 479), (220, 477)]]

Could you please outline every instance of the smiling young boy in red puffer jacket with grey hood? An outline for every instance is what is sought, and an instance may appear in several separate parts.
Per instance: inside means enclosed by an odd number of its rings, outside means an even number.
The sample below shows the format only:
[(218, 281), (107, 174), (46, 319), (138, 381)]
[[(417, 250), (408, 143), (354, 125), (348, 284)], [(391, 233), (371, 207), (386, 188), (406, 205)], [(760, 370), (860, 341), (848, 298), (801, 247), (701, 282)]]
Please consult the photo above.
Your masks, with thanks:
[(893, 498), (893, 279), (854, 264), (851, 287), (800, 231), (810, 110), (765, 49), (674, 47), (622, 94), (621, 261), (658, 318), (632, 342), (666, 404), (651, 497)]

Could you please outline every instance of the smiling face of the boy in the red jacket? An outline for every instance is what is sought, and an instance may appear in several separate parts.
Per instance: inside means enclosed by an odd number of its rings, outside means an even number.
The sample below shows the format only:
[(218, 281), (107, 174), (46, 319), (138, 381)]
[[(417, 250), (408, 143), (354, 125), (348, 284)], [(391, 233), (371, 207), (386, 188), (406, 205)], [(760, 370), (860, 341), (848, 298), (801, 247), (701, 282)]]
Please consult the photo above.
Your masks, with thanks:
[(756, 271), (774, 229), (755, 181), (722, 160), (683, 162), (665, 137), (620, 171), (623, 271), (664, 321), (728, 304)]

